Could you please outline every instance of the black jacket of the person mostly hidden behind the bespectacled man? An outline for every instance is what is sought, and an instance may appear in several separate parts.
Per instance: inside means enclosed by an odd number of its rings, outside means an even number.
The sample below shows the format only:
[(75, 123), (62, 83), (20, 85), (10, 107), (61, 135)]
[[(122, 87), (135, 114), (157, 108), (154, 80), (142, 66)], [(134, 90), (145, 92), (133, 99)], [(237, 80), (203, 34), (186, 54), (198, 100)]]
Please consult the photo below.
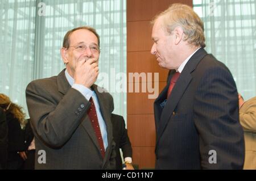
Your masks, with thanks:
[(112, 124), (113, 124), (113, 137), (115, 141), (115, 163), (117, 169), (122, 169), (122, 158), (120, 154), (120, 148), (123, 152), (123, 158), (133, 157), (133, 149), (131, 148), (131, 142), (128, 137), (127, 129), (125, 128), (125, 120), (123, 116), (115, 115), (112, 113)]

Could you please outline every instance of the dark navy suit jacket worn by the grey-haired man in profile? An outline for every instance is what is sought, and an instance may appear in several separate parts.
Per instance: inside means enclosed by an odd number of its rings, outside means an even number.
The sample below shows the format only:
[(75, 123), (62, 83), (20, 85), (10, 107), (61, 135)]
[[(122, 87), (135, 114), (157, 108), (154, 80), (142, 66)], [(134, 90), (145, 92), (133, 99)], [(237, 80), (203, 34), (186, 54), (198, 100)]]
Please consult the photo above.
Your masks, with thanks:
[[(155, 168), (242, 169), (238, 93), (228, 68), (203, 48), (197, 50), (164, 106), (170, 79), (154, 103)], [(216, 151), (217, 163), (209, 163), (210, 150)]]

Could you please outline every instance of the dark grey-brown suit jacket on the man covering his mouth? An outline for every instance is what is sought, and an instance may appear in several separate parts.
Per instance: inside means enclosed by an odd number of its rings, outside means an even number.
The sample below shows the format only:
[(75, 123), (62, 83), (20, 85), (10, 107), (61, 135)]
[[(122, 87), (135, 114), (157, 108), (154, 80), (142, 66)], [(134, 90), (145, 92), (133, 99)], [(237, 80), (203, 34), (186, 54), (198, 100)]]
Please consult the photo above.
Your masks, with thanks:
[[(28, 112), (35, 134), (35, 169), (114, 169), (115, 151), (111, 112), (113, 98), (108, 92), (97, 95), (108, 132), (104, 159), (87, 111), (90, 102), (72, 89), (65, 69), (55, 77), (32, 81), (26, 90)], [(46, 163), (38, 163), (39, 150), (46, 151)], [(43, 161), (40, 157), (39, 160)]]

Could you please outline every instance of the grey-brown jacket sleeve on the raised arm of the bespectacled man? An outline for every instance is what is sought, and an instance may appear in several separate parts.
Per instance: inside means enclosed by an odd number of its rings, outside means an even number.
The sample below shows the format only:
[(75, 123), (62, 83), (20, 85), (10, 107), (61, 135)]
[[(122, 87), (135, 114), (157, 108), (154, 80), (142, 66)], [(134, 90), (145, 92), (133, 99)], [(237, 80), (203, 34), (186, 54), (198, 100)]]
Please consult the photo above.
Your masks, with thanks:
[(60, 101), (56, 99), (60, 95), (50, 91), (42, 82), (31, 82), (26, 89), (27, 107), (35, 136), (52, 148), (60, 148), (71, 138), (90, 103), (72, 88)]

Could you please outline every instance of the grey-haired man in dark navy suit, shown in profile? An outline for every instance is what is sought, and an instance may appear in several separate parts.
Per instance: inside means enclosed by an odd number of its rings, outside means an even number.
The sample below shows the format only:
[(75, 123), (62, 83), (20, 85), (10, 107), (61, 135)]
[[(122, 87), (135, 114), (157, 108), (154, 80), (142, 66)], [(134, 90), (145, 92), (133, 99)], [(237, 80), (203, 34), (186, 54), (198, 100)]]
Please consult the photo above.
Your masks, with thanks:
[(242, 169), (236, 83), (203, 49), (203, 22), (191, 7), (174, 4), (152, 23), (151, 53), (171, 70), (154, 103), (155, 169)]

